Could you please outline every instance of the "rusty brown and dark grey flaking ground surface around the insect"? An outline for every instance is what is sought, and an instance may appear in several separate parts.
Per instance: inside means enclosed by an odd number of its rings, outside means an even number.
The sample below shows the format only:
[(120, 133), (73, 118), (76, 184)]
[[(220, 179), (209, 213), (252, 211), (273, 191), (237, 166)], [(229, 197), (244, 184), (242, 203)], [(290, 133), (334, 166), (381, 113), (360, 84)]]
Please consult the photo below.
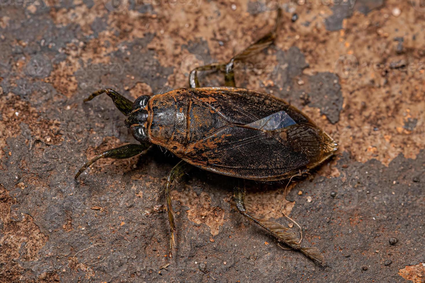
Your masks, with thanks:
[[(279, 3), (278, 1), (275, 1)], [(237, 180), (193, 170), (173, 191), (153, 146), (133, 142), (109, 98), (187, 87), (191, 68), (227, 61), (269, 31), (270, 1), (10, 0), (0, 4), (2, 282), (424, 282), (425, 7), (420, 1), (280, 2), (275, 44), (236, 67), (239, 87), (306, 112), (340, 144), (289, 186), (246, 182), (252, 211), (303, 227), (321, 268), (282, 250), (232, 202)], [(201, 76), (220, 85), (220, 76)]]

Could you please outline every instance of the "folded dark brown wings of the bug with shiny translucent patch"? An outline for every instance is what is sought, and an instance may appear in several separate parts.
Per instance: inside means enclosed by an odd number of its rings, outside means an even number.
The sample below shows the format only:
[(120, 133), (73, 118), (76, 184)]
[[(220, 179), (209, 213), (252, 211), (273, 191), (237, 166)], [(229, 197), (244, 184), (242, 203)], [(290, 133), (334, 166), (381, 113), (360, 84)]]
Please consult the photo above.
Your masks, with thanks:
[[(202, 88), (190, 95), (190, 120), (203, 121), (200, 116), (207, 115), (213, 121), (190, 123), (180, 157), (195, 166), (246, 179), (277, 180), (308, 171), (323, 159), (323, 132), (284, 101), (237, 88)], [(286, 120), (278, 120), (280, 126), (273, 130), (270, 119), (276, 120), (275, 113)]]

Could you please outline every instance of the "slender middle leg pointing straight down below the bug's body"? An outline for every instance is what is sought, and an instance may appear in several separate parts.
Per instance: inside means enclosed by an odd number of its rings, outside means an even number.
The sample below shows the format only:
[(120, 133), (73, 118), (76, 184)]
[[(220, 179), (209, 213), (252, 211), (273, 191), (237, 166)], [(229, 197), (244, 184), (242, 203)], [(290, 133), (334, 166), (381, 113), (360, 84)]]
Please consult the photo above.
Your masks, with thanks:
[(187, 172), (192, 169), (192, 165), (189, 163), (186, 163), (185, 161), (181, 160), (179, 163), (177, 163), (176, 166), (171, 169), (170, 173), (168, 173), (167, 181), (165, 182), (164, 186), (164, 192), (165, 192), (165, 202), (166, 202), (166, 209), (168, 213), (168, 220), (170, 222), (170, 249), (168, 251), (168, 256), (171, 258), (173, 257), (172, 249), (174, 242), (174, 232), (176, 231), (176, 223), (175, 223), (175, 217), (176, 213), (173, 210), (173, 204), (171, 201), (171, 189), (173, 188), (173, 185), (175, 185), (176, 182), (178, 182), (181, 177), (184, 176)]

